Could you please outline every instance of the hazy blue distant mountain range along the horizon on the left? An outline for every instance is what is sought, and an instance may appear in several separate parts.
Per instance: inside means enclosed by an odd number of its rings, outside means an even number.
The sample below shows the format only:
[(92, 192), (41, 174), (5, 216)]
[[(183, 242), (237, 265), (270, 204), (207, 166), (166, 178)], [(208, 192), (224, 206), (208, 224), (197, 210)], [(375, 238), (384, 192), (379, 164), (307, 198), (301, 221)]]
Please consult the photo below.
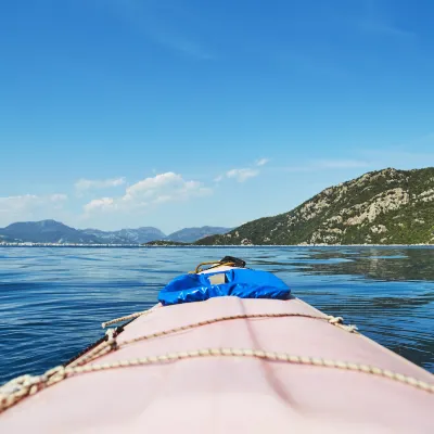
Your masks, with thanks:
[[(194, 242), (208, 234), (226, 233), (228, 228), (186, 228), (166, 235), (154, 227), (103, 231), (100, 229), (75, 229), (60, 221), (18, 221), (0, 228), (0, 242), (31, 242), (55, 244), (145, 244), (150, 241), (168, 240)], [(176, 239), (171, 240), (170, 237)]]

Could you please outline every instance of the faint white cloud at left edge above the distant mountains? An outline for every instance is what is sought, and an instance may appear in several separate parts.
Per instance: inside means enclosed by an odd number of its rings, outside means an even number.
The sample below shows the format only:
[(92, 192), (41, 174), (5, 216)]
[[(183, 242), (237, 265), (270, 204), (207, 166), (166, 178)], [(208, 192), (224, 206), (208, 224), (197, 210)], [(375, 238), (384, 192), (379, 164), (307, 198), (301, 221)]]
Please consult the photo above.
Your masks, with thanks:
[(23, 194), (0, 197), (0, 226), (13, 221), (53, 218), (63, 208), (66, 194)]

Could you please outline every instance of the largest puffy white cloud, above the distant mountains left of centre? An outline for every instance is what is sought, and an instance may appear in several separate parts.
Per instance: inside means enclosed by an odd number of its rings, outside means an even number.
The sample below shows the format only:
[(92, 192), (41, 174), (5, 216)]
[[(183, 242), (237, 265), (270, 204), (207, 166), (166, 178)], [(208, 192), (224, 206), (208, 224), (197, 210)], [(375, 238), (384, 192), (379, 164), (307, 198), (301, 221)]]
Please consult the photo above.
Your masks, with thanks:
[(186, 181), (181, 175), (168, 171), (145, 178), (129, 186), (119, 197), (94, 199), (85, 205), (85, 213), (130, 212), (157, 206), (167, 202), (186, 201), (208, 195), (212, 190), (197, 181)]

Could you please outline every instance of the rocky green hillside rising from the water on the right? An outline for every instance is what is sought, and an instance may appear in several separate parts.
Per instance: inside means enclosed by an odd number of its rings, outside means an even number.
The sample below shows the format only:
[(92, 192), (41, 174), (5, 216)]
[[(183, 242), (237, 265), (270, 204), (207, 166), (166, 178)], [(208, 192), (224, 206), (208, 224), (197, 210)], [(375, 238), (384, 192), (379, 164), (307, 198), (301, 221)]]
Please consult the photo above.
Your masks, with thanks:
[(387, 168), (328, 188), (293, 210), (201, 245), (434, 243), (434, 167)]

